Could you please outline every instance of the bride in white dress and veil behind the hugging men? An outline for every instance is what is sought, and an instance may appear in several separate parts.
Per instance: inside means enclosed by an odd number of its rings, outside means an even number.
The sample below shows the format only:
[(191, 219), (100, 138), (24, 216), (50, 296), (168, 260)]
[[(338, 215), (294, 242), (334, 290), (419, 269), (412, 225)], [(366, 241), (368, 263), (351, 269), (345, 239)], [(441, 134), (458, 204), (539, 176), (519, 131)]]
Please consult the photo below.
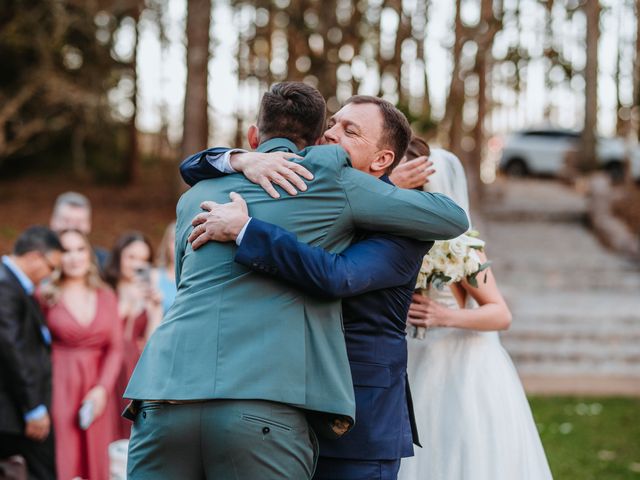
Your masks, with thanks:
[[(460, 161), (444, 150), (433, 150), (431, 160), (436, 172), (425, 190), (448, 195), (468, 212)], [(400, 480), (552, 478), (518, 374), (496, 332), (509, 328), (511, 313), (490, 269), (477, 280), (478, 288), (463, 281), (431, 288), (428, 297), (414, 294), (407, 370), (423, 448), (402, 460)], [(412, 335), (416, 327), (427, 329), (423, 339)]]

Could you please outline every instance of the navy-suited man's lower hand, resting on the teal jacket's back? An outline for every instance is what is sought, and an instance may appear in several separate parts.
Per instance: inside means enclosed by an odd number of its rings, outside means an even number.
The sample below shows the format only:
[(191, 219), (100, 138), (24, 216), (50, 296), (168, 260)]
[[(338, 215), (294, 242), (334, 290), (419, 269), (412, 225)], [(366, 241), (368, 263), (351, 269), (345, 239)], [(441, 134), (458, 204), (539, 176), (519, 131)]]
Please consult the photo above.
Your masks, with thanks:
[(242, 227), (249, 221), (249, 209), (244, 199), (237, 193), (229, 194), (230, 203), (202, 202), (200, 208), (206, 210), (193, 218), (195, 228), (189, 235), (189, 242), (197, 250), (207, 242), (233, 242)]

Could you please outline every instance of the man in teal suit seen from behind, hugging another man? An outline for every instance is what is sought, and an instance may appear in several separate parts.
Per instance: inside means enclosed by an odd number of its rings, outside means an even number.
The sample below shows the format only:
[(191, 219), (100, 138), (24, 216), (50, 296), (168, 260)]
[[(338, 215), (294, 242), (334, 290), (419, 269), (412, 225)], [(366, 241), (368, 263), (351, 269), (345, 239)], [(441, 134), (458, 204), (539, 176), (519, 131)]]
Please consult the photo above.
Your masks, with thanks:
[[(237, 192), (257, 217), (333, 251), (346, 248), (356, 229), (424, 241), (466, 231), (466, 214), (447, 197), (379, 182), (351, 168), (336, 145), (299, 151), (320, 136), (324, 112), (314, 88), (277, 84), (249, 132), (259, 151), (303, 157), (314, 175), (307, 191), (274, 200), (244, 176), (229, 175), (202, 181), (180, 199), (178, 294), (125, 392), (141, 401), (132, 412), (129, 478), (311, 478), (317, 446), (307, 418), (338, 419), (337, 434), (354, 421), (340, 302), (253, 273), (234, 262), (232, 244), (194, 251), (187, 238), (203, 201), (224, 203)], [(406, 119), (401, 126), (408, 142)], [(393, 163), (393, 149), (380, 143), (367, 168)]]

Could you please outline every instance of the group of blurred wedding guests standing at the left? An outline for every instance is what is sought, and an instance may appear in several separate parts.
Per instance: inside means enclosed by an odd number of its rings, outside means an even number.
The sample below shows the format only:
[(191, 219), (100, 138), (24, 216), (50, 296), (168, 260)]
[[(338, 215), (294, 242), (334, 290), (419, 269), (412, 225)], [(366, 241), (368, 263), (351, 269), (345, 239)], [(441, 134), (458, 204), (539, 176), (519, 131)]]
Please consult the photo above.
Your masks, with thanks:
[(129, 437), (122, 393), (175, 297), (174, 230), (156, 264), (139, 232), (91, 245), (91, 203), (55, 201), (0, 263), (0, 478), (110, 478), (108, 447)]

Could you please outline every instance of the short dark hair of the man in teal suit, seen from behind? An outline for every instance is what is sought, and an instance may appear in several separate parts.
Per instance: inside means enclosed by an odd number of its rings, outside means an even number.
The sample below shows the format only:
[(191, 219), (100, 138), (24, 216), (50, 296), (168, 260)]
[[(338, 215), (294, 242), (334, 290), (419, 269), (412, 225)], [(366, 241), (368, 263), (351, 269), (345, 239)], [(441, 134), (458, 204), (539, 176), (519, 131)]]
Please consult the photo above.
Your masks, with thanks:
[(313, 145), (324, 131), (327, 104), (322, 94), (302, 82), (276, 83), (262, 96), (258, 112), (260, 141), (288, 138)]

